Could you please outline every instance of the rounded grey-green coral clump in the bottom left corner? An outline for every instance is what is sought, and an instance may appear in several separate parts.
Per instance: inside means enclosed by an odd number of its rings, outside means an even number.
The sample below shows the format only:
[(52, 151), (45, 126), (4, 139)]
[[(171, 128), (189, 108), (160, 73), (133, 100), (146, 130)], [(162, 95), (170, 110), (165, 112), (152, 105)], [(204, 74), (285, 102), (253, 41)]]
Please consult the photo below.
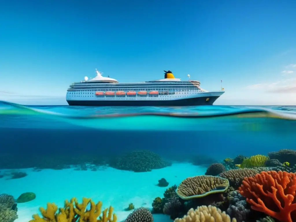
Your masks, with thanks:
[(17, 204), (14, 197), (9, 194), (0, 194), (0, 222), (13, 222), (17, 218)]

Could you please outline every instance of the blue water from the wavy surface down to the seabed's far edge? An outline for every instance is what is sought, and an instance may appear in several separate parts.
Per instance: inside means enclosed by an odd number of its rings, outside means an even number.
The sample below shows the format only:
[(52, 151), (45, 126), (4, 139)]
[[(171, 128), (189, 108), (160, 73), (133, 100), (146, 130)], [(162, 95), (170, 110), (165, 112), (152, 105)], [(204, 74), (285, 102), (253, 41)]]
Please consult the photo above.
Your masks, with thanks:
[[(0, 103), (0, 153), (215, 159), (295, 149), (296, 106), (70, 107)], [(1, 165), (0, 165), (1, 168)]]

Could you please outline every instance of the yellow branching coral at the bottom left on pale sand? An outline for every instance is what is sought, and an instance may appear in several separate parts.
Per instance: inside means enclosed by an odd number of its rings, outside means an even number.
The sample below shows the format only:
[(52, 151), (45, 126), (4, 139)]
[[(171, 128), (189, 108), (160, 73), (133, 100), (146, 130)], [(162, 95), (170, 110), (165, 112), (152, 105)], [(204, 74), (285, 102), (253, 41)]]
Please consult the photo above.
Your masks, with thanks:
[[(87, 205), (90, 203), (90, 210), (86, 210)], [(59, 208), (57, 213), (57, 205), (54, 203), (47, 203), (46, 210), (40, 207), (42, 218), (38, 214), (33, 215), (33, 220), (29, 222), (116, 222), (117, 217), (112, 212), (113, 207), (105, 209), (102, 216), (101, 213), (102, 202), (99, 201), (95, 204), (91, 199), (83, 198), (82, 203), (79, 204), (76, 198), (72, 198), (70, 202), (65, 200), (63, 208)], [(99, 219), (97, 219), (99, 217)]]

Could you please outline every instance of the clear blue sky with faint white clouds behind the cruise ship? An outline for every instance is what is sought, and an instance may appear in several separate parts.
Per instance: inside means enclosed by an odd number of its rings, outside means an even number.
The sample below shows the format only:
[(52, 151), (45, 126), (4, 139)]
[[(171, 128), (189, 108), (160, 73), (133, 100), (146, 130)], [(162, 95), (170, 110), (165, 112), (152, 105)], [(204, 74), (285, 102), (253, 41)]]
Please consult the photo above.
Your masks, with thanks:
[(296, 105), (296, 1), (4, 1), (0, 100), (67, 104), (95, 68), (201, 81), (223, 105)]

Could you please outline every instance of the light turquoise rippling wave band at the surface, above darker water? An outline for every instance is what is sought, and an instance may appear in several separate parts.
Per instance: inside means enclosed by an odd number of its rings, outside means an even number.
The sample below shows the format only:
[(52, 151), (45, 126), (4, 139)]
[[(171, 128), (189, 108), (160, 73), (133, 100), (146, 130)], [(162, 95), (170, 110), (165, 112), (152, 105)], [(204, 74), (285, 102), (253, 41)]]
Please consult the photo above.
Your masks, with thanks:
[[(0, 127), (45, 127), (45, 122), (69, 123), (75, 126), (110, 130), (263, 130), (276, 119), (293, 122), (296, 107), (73, 107), (25, 106), (0, 101)], [(6, 115), (6, 118), (4, 116)], [(12, 117), (18, 118), (12, 118)], [(21, 118), (26, 116), (26, 118)], [(28, 118), (30, 116), (30, 118)], [(9, 120), (7, 118), (11, 117)], [(4, 120), (4, 122), (3, 122)], [(17, 124), (18, 123), (18, 124)], [(23, 123), (23, 124), (20, 124)], [(25, 124), (26, 123), (26, 124)], [(30, 124), (28, 124), (30, 123)], [(44, 124), (42, 124), (44, 123)], [(48, 124), (46, 125), (48, 126)], [(227, 126), (229, 126), (227, 128)], [(53, 126), (57, 127), (57, 125)]]

